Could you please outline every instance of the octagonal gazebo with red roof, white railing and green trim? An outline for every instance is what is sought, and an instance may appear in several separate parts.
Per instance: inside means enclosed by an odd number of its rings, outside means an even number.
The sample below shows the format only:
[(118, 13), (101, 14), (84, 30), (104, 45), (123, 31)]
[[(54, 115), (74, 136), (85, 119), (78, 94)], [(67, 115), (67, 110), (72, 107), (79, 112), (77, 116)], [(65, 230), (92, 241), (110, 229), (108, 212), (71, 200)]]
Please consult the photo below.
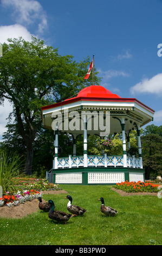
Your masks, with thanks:
[[(42, 107), (44, 127), (54, 130), (53, 168), (47, 172), (57, 184), (116, 184), (121, 181), (144, 181), (140, 127), (153, 120), (154, 110), (134, 98), (122, 98), (102, 86), (89, 86), (76, 97)], [(130, 156), (129, 133), (137, 130), (138, 157)], [(73, 155), (58, 156), (58, 132), (73, 136)], [(104, 138), (122, 133), (122, 155), (88, 155), (87, 136)], [(83, 154), (77, 155), (76, 139), (83, 135)]]

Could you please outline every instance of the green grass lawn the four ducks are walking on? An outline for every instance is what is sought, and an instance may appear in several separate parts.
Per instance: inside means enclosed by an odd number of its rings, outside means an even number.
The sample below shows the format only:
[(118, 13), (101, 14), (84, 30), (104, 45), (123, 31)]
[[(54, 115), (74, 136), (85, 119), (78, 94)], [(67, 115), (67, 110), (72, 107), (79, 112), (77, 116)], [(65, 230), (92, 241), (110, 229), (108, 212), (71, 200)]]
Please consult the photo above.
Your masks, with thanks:
[[(22, 219), (0, 218), (0, 245), (162, 245), (162, 199), (157, 196), (121, 197), (110, 185), (60, 187), (86, 214), (70, 218), (67, 225), (41, 210)], [(43, 199), (68, 212), (66, 196), (47, 194)], [(118, 211), (115, 217), (102, 214), (100, 197)]]

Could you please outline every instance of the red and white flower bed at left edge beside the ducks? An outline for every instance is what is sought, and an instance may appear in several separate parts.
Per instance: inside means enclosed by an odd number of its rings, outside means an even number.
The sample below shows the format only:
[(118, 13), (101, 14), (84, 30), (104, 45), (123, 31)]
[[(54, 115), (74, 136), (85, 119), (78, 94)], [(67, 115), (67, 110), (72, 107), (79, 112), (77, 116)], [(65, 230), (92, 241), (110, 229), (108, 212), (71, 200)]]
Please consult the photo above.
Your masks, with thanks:
[(31, 201), (35, 198), (42, 197), (41, 192), (36, 190), (23, 190), (17, 191), (14, 194), (6, 192), (3, 197), (0, 198), (0, 207), (7, 205), (11, 207), (12, 205), (16, 206), (17, 204), (22, 204), (26, 201)]

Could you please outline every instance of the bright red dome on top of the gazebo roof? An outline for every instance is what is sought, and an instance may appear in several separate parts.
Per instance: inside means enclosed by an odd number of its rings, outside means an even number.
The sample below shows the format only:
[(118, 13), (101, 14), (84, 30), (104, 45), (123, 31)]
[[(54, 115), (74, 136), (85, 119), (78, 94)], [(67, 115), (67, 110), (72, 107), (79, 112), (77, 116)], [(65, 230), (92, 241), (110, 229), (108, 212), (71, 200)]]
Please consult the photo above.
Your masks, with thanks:
[(83, 88), (77, 97), (94, 97), (94, 98), (121, 98), (117, 94), (113, 94), (110, 90), (103, 86), (89, 86)]

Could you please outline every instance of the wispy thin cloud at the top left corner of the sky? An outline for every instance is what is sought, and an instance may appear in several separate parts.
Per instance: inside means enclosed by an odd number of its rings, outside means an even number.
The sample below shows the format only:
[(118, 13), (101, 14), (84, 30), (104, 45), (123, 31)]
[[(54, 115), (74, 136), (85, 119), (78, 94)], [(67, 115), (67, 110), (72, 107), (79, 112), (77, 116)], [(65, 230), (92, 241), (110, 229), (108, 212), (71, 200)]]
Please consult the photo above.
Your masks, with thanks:
[(28, 26), (38, 23), (38, 33), (47, 28), (47, 17), (41, 4), (35, 0), (2, 0), (3, 7), (13, 8), (16, 23)]

